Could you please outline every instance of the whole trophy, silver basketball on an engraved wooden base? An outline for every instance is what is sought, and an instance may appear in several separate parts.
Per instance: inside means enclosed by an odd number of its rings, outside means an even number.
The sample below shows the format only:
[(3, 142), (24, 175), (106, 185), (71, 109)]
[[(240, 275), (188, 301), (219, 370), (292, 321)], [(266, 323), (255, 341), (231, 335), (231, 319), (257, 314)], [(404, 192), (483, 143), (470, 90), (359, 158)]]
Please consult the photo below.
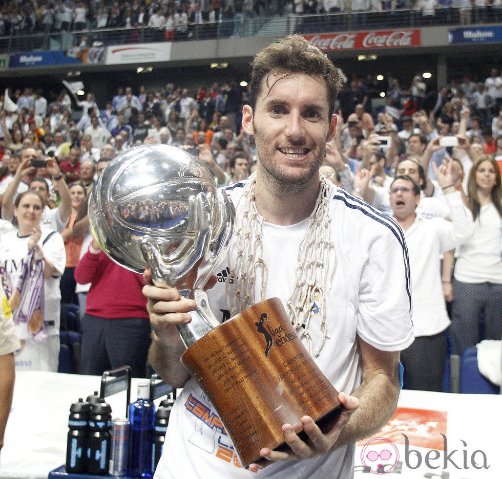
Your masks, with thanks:
[[(283, 424), (305, 437), (301, 418), (323, 431), (339, 417), (338, 391), (298, 337), (279, 298), (219, 323), (203, 288), (226, 255), (235, 209), (195, 157), (168, 145), (142, 145), (115, 157), (99, 177), (89, 219), (102, 250), (138, 273), (194, 299), (177, 324), (181, 362), (210, 398), (243, 467), (260, 449), (284, 444)], [(222, 281), (225, 274), (221, 273)]]

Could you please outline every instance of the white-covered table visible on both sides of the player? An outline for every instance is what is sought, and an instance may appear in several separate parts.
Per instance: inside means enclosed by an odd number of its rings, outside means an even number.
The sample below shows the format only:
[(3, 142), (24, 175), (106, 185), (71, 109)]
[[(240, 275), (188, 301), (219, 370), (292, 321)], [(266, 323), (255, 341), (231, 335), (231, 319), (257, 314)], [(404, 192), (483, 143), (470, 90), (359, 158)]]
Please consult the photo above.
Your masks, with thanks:
[[(136, 399), (137, 380), (133, 378), (131, 400)], [(66, 460), (66, 440), (70, 405), (78, 398), (85, 399), (99, 390), (100, 377), (70, 374), (25, 372), (17, 373), (14, 401), (7, 431), (5, 446), (0, 459), (0, 478), (47, 479), (49, 472)], [(125, 414), (126, 393), (107, 398), (112, 406), (113, 417)], [(463, 451), (467, 451), (468, 470), (455, 469), (448, 464), (446, 472), (449, 479), (498, 479), (502, 470), (500, 453), (500, 434), (502, 433), (502, 396), (498, 395), (460, 395), (446, 393), (425, 393), (423, 391), (402, 391), (398, 416), (393, 423), (376, 436), (392, 440), (404, 461), (405, 446), (401, 444), (402, 433), (410, 437), (410, 446), (422, 455), (422, 466), (416, 469), (402, 466), (402, 472), (391, 474), (363, 473), (361, 451), (365, 441), (356, 450), (354, 479), (371, 479), (384, 475), (388, 479), (415, 479), (423, 477), (447, 477), (442, 474), (442, 460), (431, 462), (432, 466), (441, 463), (438, 469), (424, 465), (427, 452), (431, 450), (431, 438), (443, 431), (448, 441), (448, 452), (458, 452), (452, 459), (463, 466)], [(428, 412), (430, 411), (430, 412)], [(428, 420), (428, 415), (432, 421)], [(428, 423), (442, 418), (442, 424)], [(407, 429), (408, 428), (408, 429)], [(441, 438), (442, 439), (442, 438)], [(467, 446), (462, 443), (464, 441)], [(428, 444), (429, 443), (429, 444)], [(388, 447), (385, 443), (376, 445), (378, 450)], [(434, 447), (432, 447), (433, 449)], [(476, 470), (470, 458), (474, 451), (483, 450), (490, 468)], [(440, 451), (442, 453), (443, 451)], [(480, 455), (477, 453), (476, 459)], [(412, 466), (414, 463), (412, 463)], [(425, 475), (425, 474), (437, 474)], [(250, 477), (255, 474), (250, 473)], [(370, 477), (371, 476), (371, 477)], [(307, 479), (307, 478), (306, 478)]]

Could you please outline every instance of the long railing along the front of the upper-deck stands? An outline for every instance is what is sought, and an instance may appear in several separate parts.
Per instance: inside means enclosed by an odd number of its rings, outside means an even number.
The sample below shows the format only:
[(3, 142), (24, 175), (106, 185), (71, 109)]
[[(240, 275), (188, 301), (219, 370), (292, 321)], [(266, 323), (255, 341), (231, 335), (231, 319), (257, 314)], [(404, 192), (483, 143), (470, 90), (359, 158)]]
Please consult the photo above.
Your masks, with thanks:
[[(321, 15), (254, 16), (251, 14), (215, 23), (189, 24), (184, 31), (166, 33), (163, 28), (91, 28), (82, 31), (48, 30), (30, 35), (13, 33), (0, 36), (0, 53), (71, 50), (76, 47), (130, 45), (162, 41), (211, 40), (242, 36), (283, 36), (290, 33), (346, 32), (396, 28), (420, 28), (439, 25), (461, 25), (458, 7), (435, 10), (435, 15), (424, 16), (420, 10), (385, 12), (352, 12)], [(464, 15), (465, 16), (465, 15)], [(502, 9), (486, 8), (481, 15), (472, 12), (476, 27), (481, 23), (498, 23)], [(469, 25), (462, 25), (468, 27)], [(474, 27), (474, 25), (472, 25)], [(82, 44), (82, 41), (85, 43)]]

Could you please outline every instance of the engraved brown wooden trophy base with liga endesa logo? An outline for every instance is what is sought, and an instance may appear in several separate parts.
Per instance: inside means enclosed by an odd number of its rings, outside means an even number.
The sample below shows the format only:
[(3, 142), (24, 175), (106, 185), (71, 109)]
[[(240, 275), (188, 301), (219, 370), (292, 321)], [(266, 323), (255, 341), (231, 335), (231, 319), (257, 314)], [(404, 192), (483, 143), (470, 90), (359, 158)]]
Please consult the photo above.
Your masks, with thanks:
[(283, 424), (299, 433), (301, 418), (310, 416), (327, 431), (339, 416), (338, 391), (309, 355), (279, 298), (220, 324), (181, 361), (211, 399), (243, 467), (262, 460), (263, 447), (286, 446)]

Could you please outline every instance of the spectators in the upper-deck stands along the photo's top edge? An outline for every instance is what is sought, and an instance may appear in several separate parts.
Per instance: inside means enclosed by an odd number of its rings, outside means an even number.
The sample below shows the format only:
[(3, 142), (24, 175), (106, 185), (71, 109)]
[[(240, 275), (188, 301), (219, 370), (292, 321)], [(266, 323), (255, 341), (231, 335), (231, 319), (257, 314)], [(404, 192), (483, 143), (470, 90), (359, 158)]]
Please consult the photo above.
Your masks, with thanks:
[[(499, 21), (500, 0), (20, 0), (4, 2), (0, 10), (0, 36), (33, 33), (150, 27), (158, 30), (151, 41), (185, 38), (194, 34), (189, 25), (233, 21), (229, 33), (240, 35), (244, 18), (293, 13), (296, 15), (353, 13), (359, 15), (352, 27), (364, 24), (366, 14), (413, 10), (424, 18), (449, 18), (458, 10), (462, 24)], [(349, 26), (345, 20), (333, 27)], [(85, 41), (85, 38), (84, 38)]]

